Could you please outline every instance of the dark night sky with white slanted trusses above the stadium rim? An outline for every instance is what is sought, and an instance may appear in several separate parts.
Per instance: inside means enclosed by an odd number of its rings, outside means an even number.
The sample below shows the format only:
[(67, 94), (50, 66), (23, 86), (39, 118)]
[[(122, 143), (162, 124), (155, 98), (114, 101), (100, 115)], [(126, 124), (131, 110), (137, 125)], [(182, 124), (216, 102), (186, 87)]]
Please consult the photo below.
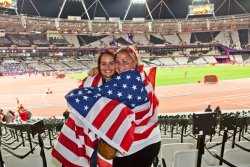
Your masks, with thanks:
[[(186, 18), (188, 6), (195, 3), (214, 4), (214, 15), (237, 15), (250, 12), (249, 0), (146, 0), (145, 4), (131, 3), (134, 0), (18, 0), (17, 13), (28, 16), (67, 18), (81, 16), (81, 19), (95, 17), (152, 19)], [(138, 0), (137, 0), (138, 1)], [(1, 9), (9, 12), (10, 9)]]

